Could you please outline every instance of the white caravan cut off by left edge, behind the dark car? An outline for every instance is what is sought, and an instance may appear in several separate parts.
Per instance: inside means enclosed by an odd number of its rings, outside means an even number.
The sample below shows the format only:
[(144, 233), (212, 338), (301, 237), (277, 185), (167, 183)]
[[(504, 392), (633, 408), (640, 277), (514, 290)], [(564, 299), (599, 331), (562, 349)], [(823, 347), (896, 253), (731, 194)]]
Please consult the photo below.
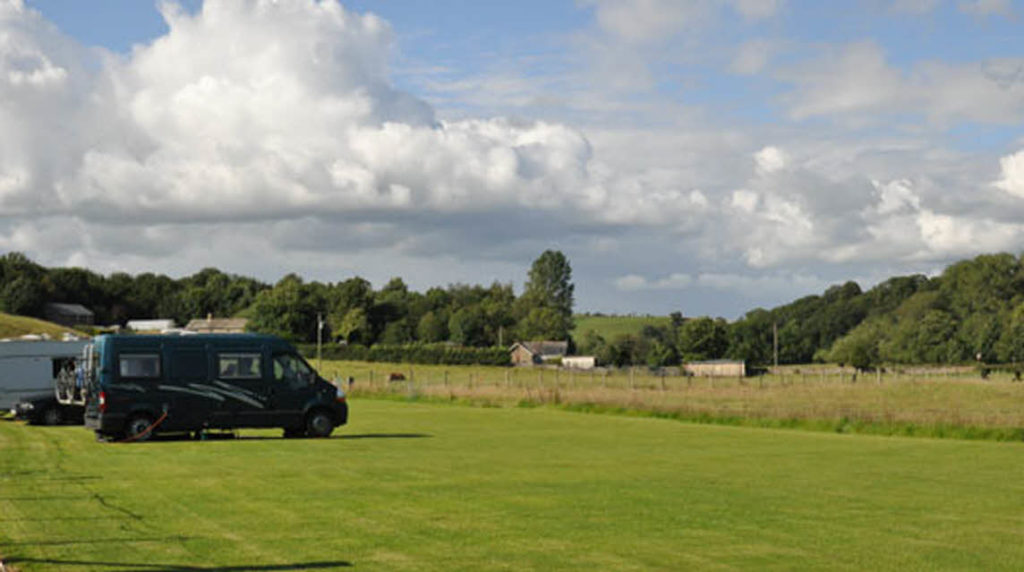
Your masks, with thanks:
[(0, 342), (0, 410), (23, 397), (53, 391), (54, 379), (74, 367), (87, 342)]

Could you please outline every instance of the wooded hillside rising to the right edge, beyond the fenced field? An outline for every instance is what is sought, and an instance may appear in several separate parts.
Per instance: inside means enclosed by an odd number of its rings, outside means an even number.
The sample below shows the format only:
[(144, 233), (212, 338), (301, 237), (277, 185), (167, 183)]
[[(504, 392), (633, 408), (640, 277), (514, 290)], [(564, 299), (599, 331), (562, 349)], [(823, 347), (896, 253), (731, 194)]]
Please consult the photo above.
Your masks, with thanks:
[(896, 276), (862, 291), (834, 285), (740, 319), (684, 318), (605, 340), (578, 340), (581, 352), (615, 365), (663, 366), (703, 359), (769, 365), (1024, 361), (1024, 258), (981, 255), (940, 275)]

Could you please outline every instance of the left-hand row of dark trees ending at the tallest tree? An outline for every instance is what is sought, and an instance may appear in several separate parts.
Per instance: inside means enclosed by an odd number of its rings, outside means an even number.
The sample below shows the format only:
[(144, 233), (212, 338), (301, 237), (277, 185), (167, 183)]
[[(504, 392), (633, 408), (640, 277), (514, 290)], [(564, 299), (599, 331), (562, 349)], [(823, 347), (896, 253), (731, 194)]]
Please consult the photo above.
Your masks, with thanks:
[(42, 317), (47, 302), (81, 304), (97, 323), (172, 318), (179, 324), (214, 315), (245, 317), (254, 332), (294, 342), (324, 339), (353, 345), (397, 346), (451, 342), (467, 347), (515, 340), (568, 340), (572, 329), (572, 269), (558, 251), (546, 251), (516, 296), (511, 283), (450, 284), (414, 292), (395, 277), (380, 290), (354, 276), (337, 282), (288, 274), (274, 284), (205, 268), (179, 279), (83, 268), (46, 268), (24, 254), (0, 257), (0, 310)]

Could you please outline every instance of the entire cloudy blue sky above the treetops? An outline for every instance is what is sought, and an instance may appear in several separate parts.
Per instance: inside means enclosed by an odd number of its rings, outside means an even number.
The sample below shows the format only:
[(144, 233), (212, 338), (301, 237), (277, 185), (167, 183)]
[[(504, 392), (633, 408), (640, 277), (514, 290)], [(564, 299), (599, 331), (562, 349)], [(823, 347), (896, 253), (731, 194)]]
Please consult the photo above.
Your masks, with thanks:
[(0, 0), (0, 252), (732, 319), (1024, 244), (1013, 0)]

